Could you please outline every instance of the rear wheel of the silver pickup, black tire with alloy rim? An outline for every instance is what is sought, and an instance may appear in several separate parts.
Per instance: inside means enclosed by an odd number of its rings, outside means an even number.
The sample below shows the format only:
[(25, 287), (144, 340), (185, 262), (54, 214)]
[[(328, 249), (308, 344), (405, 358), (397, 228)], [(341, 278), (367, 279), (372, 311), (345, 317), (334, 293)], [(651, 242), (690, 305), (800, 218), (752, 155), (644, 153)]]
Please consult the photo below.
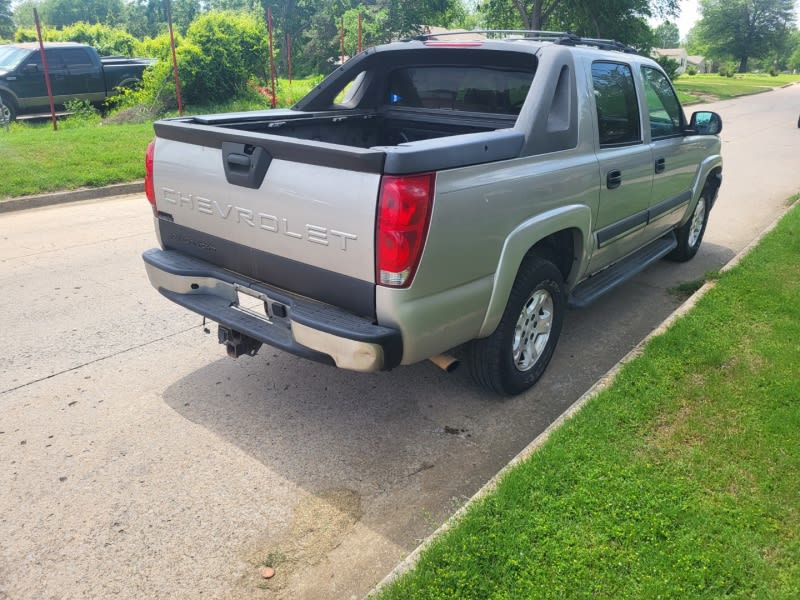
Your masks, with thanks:
[(506, 396), (533, 386), (553, 357), (566, 310), (561, 272), (538, 256), (525, 259), (497, 329), (467, 346), (475, 382)]

